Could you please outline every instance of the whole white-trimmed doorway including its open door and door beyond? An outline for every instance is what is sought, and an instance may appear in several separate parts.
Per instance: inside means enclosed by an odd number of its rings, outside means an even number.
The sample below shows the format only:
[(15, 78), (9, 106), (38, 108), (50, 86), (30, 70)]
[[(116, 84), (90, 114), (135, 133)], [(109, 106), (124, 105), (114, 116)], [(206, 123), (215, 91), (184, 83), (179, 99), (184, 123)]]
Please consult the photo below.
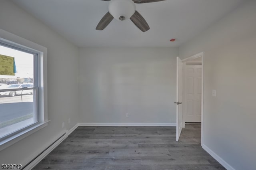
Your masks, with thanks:
[(202, 145), (204, 129), (204, 52), (183, 60), (177, 57), (177, 99), (175, 103), (178, 103), (176, 107), (176, 140), (178, 141), (186, 123), (201, 123)]

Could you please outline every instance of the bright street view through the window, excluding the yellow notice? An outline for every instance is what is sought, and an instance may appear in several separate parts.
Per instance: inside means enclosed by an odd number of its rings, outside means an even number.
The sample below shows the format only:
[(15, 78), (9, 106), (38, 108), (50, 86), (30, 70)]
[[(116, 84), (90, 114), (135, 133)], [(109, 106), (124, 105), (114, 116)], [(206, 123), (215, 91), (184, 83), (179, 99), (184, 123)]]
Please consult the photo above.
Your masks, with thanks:
[[(14, 75), (0, 74), (0, 139), (38, 122), (37, 54), (0, 44), (0, 55), (14, 57)], [(1, 65), (0, 65), (1, 66)]]

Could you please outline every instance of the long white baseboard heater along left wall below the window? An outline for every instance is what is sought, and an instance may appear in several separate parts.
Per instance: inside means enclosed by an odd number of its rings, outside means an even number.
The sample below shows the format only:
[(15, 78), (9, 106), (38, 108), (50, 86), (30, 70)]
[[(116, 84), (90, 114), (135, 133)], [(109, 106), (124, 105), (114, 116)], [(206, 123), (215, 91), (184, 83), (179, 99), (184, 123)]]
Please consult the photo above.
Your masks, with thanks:
[(34, 155), (32, 157), (32, 159), (30, 159), (30, 160), (32, 160), (32, 162), (30, 162), (28, 165), (26, 165), (24, 170), (31, 170), (32, 168), (34, 168), (41, 160), (44, 159), (44, 157), (46, 157), (50, 152), (52, 152), (52, 150), (54, 150), (54, 148), (56, 148), (64, 139), (66, 139), (68, 137), (68, 135), (70, 133), (72, 133), (77, 127), (78, 127), (78, 124), (76, 124), (70, 130), (66, 130), (66, 132), (64, 132), (62, 135), (60, 135), (58, 138), (54, 139), (51, 142), (50, 146), (46, 147), (47, 148), (46, 150), (42, 150), (40, 153), (38, 153), (39, 155), (38, 154)]

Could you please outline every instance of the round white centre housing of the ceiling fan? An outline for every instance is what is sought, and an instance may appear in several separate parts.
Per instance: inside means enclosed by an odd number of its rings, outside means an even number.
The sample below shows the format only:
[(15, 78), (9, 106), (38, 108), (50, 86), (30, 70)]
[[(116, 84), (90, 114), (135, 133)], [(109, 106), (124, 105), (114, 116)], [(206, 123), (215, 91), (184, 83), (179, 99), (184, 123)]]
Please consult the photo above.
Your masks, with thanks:
[(109, 13), (120, 21), (130, 18), (135, 10), (136, 6), (132, 0), (111, 0), (108, 4)]

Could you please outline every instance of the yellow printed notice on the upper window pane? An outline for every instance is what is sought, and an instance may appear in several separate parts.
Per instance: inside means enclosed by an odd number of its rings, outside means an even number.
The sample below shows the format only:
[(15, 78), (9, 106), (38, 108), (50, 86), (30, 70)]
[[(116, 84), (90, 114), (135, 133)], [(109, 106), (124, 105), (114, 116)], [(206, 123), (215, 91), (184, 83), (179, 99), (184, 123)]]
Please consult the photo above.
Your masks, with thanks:
[(0, 75), (15, 75), (14, 57), (0, 54)]

